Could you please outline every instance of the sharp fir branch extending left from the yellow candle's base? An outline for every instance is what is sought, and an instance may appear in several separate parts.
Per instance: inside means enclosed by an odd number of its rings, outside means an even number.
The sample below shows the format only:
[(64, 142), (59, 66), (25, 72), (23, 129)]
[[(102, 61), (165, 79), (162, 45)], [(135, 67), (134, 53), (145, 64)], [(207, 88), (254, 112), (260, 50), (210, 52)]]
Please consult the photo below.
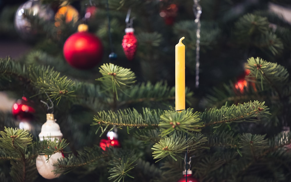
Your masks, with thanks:
[[(97, 131), (101, 128), (105, 131), (108, 125), (116, 127), (157, 127), (159, 117), (162, 111), (159, 109), (143, 108), (143, 113), (139, 113), (136, 109), (125, 109), (113, 111), (100, 111), (94, 116), (95, 122), (92, 125), (99, 125)], [(103, 128), (102, 126), (106, 126)], [(96, 131), (96, 133), (97, 133)]]

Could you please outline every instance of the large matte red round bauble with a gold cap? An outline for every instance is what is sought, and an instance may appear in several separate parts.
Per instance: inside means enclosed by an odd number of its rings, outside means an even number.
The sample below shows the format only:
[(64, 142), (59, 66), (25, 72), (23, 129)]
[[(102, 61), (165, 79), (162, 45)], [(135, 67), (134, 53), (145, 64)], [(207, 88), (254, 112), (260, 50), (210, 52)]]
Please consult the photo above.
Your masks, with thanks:
[(103, 45), (94, 34), (77, 32), (66, 40), (63, 53), (67, 62), (74, 68), (89, 69), (102, 60)]

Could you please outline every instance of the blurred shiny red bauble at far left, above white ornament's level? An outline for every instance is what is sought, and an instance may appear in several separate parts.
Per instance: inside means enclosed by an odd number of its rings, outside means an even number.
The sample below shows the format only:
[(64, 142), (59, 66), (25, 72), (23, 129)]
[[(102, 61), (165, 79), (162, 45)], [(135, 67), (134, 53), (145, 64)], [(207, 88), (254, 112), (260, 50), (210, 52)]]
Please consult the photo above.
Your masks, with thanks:
[(17, 120), (31, 120), (35, 109), (32, 107), (33, 103), (26, 97), (18, 99), (12, 107), (12, 114)]

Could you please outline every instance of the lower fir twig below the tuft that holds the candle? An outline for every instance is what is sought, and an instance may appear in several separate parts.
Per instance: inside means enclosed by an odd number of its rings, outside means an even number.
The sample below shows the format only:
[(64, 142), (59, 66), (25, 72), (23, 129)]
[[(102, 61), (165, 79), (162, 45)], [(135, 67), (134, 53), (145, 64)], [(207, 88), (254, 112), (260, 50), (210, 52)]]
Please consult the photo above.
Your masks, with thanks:
[[(176, 155), (185, 151), (192, 151), (204, 147), (203, 144), (207, 141), (207, 138), (203, 134), (195, 133), (191, 134), (188, 138), (185, 133), (175, 132), (174, 134), (162, 138), (158, 143), (152, 146), (152, 156), (158, 161), (162, 160), (166, 156), (171, 156), (174, 160)], [(157, 162), (157, 161), (156, 161)]]

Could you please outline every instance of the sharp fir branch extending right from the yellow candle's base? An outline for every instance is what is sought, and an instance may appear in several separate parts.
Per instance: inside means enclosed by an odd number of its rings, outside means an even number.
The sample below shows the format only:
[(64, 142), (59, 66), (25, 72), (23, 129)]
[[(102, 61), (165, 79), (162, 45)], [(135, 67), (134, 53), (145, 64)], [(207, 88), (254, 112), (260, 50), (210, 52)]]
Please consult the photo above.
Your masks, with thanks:
[(205, 126), (230, 124), (231, 122), (256, 122), (262, 117), (269, 115), (269, 108), (265, 102), (253, 101), (243, 104), (233, 104), (230, 107), (222, 106), (220, 109), (212, 108), (204, 111), (200, 118)]

